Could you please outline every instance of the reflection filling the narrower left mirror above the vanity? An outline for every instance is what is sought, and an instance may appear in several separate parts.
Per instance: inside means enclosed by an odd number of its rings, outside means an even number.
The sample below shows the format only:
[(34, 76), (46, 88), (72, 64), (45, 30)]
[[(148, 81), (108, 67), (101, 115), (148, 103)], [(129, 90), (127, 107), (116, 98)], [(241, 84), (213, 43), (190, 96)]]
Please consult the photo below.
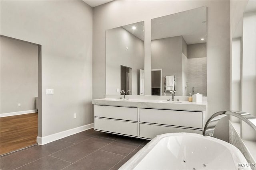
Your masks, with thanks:
[(143, 69), (144, 21), (106, 30), (106, 94), (140, 94)]

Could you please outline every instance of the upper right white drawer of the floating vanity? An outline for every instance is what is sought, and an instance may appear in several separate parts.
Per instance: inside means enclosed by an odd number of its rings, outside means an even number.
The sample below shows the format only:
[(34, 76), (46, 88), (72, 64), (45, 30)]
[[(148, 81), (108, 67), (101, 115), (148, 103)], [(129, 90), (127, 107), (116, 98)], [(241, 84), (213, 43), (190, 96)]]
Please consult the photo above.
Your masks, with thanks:
[(202, 112), (140, 109), (140, 122), (202, 129)]

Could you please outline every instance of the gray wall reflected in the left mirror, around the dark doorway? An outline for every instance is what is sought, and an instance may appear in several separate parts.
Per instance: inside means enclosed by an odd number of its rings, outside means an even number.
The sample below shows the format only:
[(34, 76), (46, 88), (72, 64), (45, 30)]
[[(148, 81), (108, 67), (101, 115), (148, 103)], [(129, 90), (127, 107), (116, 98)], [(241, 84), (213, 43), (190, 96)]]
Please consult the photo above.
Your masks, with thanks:
[[(138, 95), (139, 70), (144, 69), (144, 42), (122, 27), (106, 31), (106, 94), (120, 94), (116, 92), (121, 88), (120, 65), (132, 68), (130, 90), (133, 95)], [(101, 83), (105, 84), (103, 79)], [(126, 89), (121, 90), (126, 92)]]

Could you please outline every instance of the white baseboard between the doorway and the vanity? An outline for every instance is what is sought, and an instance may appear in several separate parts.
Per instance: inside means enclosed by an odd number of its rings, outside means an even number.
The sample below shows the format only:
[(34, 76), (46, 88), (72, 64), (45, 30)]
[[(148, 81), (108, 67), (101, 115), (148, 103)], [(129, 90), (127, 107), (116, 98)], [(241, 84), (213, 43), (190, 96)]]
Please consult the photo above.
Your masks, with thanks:
[(91, 123), (91, 124), (88, 124), (88, 125), (76, 127), (74, 129), (69, 129), (69, 130), (66, 130), (66, 131), (54, 133), (52, 135), (48, 135), (48, 136), (45, 136), (45, 137), (36, 137), (36, 142), (38, 143), (38, 145), (45, 145), (47, 143), (56, 141), (58, 139), (68, 137), (70, 135), (74, 135), (76, 133), (86, 131), (88, 129), (92, 129), (93, 127), (94, 127), (94, 123)]

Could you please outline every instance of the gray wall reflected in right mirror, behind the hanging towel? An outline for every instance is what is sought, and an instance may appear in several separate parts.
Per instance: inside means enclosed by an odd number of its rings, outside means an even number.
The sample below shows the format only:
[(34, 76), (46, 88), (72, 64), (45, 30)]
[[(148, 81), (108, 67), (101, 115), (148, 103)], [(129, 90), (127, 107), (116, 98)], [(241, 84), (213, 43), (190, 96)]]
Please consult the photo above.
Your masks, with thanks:
[(162, 68), (162, 93), (164, 76), (176, 76), (176, 96), (182, 96), (182, 36), (151, 41), (151, 68)]

